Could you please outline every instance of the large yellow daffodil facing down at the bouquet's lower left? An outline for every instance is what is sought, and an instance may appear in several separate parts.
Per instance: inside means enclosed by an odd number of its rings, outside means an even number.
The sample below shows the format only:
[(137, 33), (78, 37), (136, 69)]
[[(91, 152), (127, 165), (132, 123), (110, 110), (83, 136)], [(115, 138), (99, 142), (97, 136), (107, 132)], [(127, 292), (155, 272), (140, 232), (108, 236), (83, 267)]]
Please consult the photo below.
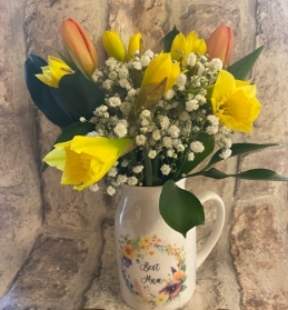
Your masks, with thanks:
[(117, 159), (128, 151), (131, 139), (76, 136), (58, 143), (43, 161), (63, 171), (61, 184), (75, 184), (82, 190), (99, 180), (110, 170)]

